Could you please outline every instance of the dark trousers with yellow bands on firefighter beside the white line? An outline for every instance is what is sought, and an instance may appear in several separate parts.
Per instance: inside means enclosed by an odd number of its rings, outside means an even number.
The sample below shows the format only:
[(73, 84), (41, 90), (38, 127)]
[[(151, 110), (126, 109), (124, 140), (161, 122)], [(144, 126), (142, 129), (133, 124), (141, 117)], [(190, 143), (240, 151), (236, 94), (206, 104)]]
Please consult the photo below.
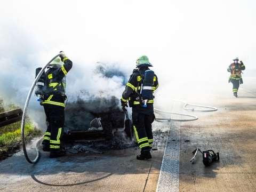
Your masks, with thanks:
[(153, 145), (153, 133), (152, 133), (152, 123), (155, 120), (155, 115), (144, 114), (140, 111), (132, 111), (132, 121), (134, 134), (137, 139), (138, 145), (141, 150), (146, 150)]

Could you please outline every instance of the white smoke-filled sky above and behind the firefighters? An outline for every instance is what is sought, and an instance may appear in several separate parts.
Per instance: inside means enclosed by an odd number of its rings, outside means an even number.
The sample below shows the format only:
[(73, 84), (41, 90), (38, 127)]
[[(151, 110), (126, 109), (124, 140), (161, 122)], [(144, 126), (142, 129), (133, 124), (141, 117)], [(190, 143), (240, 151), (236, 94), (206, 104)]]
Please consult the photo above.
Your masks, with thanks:
[[(226, 1), (3, 1), (0, 7), (0, 97), (23, 105), (35, 68), (59, 51), (73, 63), (72, 97), (81, 89), (114, 90), (121, 79), (93, 75), (97, 62), (127, 77), (147, 55), (162, 89), (191, 81), (227, 83), (235, 57), (256, 69), (256, 2)], [(93, 80), (93, 81), (92, 81)], [(97, 81), (97, 83), (94, 83)], [(115, 86), (118, 87), (115, 89)]]

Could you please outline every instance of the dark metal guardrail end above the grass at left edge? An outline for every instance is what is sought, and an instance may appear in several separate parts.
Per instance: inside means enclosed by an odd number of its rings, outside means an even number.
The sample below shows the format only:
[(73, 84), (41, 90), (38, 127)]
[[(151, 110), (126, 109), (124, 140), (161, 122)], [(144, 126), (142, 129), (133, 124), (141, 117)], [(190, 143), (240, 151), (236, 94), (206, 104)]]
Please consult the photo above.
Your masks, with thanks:
[(0, 113), (0, 127), (21, 121), (22, 109), (15, 109)]

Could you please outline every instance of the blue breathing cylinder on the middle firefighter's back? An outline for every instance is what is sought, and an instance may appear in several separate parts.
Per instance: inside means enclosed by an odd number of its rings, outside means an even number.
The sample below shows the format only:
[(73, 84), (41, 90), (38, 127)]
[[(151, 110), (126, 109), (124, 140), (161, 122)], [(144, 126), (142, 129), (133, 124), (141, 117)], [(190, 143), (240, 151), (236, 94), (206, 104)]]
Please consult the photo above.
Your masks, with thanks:
[(154, 86), (154, 71), (146, 70), (143, 82), (141, 84), (141, 99), (142, 107), (147, 107), (147, 102), (150, 99), (154, 99), (153, 86)]

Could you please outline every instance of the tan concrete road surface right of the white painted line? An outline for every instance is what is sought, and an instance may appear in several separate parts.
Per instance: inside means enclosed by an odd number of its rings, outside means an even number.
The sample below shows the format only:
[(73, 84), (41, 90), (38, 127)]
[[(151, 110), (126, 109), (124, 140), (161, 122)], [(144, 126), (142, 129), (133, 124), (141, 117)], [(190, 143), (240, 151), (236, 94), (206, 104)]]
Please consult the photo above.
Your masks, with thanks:
[[(230, 85), (212, 105), (219, 110), (180, 126), (179, 190), (256, 191), (256, 79), (242, 86), (238, 98)], [(198, 154), (191, 164), (197, 147), (219, 152), (220, 162), (205, 167)]]

